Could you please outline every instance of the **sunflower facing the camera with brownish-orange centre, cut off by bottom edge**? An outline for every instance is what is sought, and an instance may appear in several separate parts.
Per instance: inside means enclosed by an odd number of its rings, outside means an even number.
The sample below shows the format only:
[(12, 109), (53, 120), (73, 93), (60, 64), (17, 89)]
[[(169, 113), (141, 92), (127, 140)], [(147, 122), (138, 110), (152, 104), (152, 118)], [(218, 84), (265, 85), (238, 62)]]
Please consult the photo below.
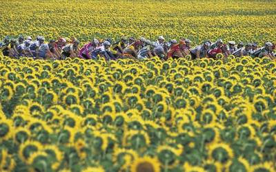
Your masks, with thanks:
[(144, 156), (137, 158), (130, 167), (131, 172), (159, 172), (160, 163), (155, 158)]

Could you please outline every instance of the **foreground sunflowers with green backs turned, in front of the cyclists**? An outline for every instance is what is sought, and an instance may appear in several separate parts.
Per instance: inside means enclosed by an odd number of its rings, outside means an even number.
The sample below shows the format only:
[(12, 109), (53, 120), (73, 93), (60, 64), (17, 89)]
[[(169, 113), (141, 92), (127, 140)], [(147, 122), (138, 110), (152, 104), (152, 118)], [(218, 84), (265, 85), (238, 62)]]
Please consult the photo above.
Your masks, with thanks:
[(0, 58), (0, 171), (276, 170), (268, 58)]

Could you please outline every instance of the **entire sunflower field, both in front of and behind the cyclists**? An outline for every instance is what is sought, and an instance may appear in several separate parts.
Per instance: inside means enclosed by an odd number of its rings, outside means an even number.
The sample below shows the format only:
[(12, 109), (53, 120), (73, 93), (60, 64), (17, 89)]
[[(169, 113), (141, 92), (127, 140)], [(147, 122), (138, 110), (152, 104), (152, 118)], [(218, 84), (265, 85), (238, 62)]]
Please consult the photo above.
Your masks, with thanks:
[[(276, 1), (1, 0), (0, 38), (276, 42)], [(188, 58), (187, 58), (188, 59)], [(0, 171), (276, 171), (276, 61), (0, 54)]]

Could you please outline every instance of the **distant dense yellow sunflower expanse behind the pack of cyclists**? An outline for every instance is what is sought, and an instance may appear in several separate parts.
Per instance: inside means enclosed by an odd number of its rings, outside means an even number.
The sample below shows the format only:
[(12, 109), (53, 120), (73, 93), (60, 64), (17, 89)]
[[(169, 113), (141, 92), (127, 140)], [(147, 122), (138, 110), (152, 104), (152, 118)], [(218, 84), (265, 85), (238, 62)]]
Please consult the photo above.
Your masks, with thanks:
[(1, 0), (0, 38), (23, 34), (46, 40), (186, 37), (193, 45), (224, 41), (276, 42), (275, 1)]

